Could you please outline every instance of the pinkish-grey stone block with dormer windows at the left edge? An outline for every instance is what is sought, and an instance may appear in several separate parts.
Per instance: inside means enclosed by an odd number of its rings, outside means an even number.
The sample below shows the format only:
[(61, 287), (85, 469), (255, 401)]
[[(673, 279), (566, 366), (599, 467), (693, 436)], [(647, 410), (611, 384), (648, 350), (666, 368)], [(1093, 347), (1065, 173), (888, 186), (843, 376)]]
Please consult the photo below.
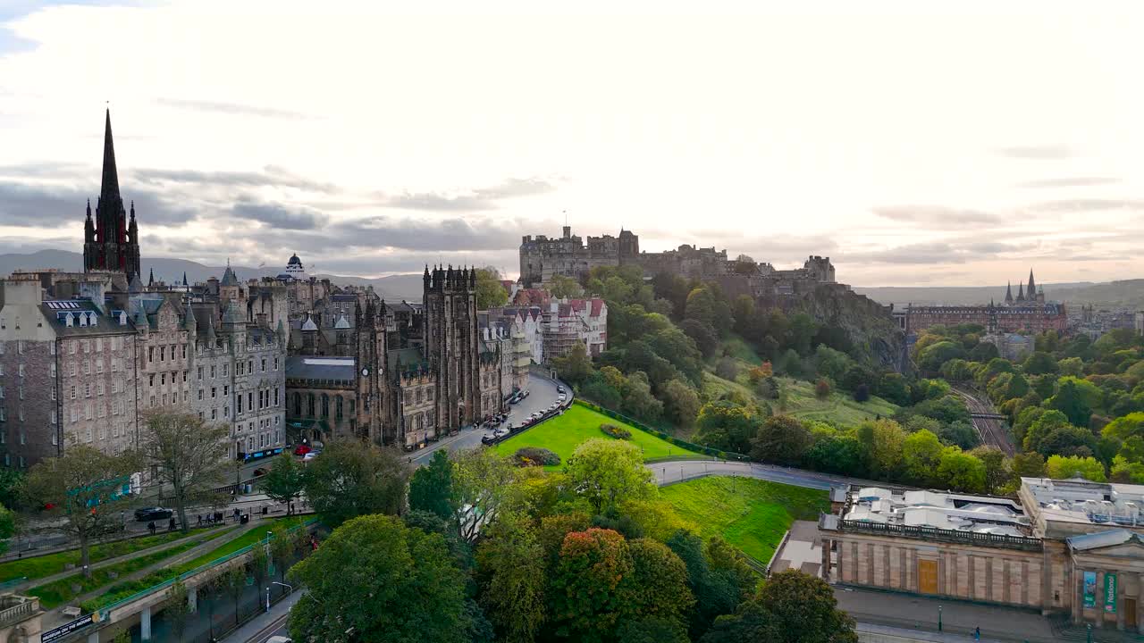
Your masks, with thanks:
[(0, 451), (24, 468), (84, 444), (104, 453), (137, 445), (137, 332), (124, 309), (88, 296), (45, 299), (37, 279), (0, 285)]

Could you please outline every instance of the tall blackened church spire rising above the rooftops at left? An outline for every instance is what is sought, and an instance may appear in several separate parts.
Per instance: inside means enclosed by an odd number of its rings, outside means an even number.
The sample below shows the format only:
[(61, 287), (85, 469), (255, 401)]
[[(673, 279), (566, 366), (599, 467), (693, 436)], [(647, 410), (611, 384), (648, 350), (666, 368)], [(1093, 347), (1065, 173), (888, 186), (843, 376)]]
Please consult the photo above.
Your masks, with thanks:
[(92, 201), (88, 200), (87, 220), (84, 222), (84, 271), (92, 270), (124, 272), (128, 281), (140, 276), (135, 204), (132, 203), (128, 222), (124, 199), (119, 195), (116, 146), (111, 137), (111, 110), (106, 112), (103, 132), (103, 182), (95, 201), (95, 221), (92, 221)]

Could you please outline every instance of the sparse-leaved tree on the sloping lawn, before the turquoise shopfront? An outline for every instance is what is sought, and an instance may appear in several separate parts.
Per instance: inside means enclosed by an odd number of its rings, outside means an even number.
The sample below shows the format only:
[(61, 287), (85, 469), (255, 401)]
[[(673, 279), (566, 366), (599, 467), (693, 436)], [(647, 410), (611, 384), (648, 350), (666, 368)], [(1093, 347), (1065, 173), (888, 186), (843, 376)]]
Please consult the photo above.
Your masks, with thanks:
[(27, 487), (40, 507), (66, 518), (64, 531), (79, 541), (84, 575), (92, 577), (93, 541), (122, 529), (121, 513), (132, 505), (121, 495), (137, 470), (132, 457), (106, 455), (84, 445), (69, 446), (63, 455), (46, 458), (29, 470)]

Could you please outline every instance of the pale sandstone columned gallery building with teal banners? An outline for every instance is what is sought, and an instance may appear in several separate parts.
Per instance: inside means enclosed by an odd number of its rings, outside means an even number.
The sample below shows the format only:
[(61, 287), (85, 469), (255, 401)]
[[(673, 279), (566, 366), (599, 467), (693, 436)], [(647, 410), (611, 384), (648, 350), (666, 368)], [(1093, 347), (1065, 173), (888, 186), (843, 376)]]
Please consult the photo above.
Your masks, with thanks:
[(841, 585), (1034, 608), (1144, 633), (1144, 486), (1022, 478), (1018, 500), (851, 486), (824, 515)]

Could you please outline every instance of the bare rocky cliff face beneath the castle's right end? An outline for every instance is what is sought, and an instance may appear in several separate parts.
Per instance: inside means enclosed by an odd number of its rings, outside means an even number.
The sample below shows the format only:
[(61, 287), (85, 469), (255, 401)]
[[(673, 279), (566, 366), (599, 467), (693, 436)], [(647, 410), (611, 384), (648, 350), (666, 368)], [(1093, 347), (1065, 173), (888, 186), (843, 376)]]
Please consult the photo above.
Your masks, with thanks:
[(821, 324), (842, 328), (874, 365), (899, 373), (907, 368), (906, 334), (884, 307), (841, 284), (808, 283), (794, 291), (760, 296), (758, 304), (781, 308), (788, 315), (805, 312)]

